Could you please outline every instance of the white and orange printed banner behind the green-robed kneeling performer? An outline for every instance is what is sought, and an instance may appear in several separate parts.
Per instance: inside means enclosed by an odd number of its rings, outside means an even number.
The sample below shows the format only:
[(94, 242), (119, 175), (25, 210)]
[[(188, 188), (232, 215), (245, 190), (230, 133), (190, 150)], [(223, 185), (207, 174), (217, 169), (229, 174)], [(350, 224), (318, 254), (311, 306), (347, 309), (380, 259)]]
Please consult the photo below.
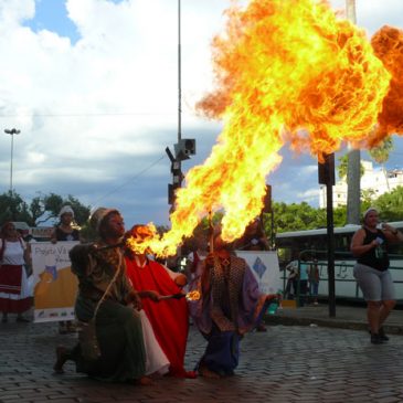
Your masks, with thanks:
[(78, 242), (31, 243), (34, 322), (74, 319), (77, 277), (71, 271), (70, 250)]

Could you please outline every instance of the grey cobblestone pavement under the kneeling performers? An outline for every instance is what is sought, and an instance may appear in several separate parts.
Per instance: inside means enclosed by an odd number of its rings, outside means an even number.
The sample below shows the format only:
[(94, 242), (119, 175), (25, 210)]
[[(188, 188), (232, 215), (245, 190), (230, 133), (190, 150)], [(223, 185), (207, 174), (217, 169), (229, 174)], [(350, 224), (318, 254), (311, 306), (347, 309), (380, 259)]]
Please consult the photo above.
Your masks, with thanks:
[[(374, 346), (364, 331), (271, 326), (242, 341), (236, 374), (222, 380), (162, 378), (150, 386), (107, 384), (66, 364), (52, 373), (54, 349), (74, 344), (56, 324), (0, 324), (0, 402), (403, 402), (403, 336)], [(191, 327), (187, 367), (204, 340)]]

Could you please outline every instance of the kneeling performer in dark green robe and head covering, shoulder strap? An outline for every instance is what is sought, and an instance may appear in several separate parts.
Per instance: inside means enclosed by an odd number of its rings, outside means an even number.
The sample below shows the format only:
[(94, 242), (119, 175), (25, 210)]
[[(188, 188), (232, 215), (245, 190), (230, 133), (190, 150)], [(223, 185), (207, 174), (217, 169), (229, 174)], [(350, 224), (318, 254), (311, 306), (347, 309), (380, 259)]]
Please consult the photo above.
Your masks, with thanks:
[(120, 247), (125, 227), (120, 213), (99, 208), (92, 215), (91, 224), (99, 241), (74, 246), (70, 257), (72, 271), (78, 277), (75, 312), (84, 327), (95, 319), (99, 357), (88, 359), (84, 348), (87, 343), (82, 339), (73, 350), (57, 348), (54, 370), (63, 372), (64, 362), (73, 360), (77, 372), (96, 379), (151, 383), (147, 374), (168, 371), (169, 362), (147, 317), (141, 316), (140, 297), (158, 301), (158, 294), (136, 293), (126, 277)]

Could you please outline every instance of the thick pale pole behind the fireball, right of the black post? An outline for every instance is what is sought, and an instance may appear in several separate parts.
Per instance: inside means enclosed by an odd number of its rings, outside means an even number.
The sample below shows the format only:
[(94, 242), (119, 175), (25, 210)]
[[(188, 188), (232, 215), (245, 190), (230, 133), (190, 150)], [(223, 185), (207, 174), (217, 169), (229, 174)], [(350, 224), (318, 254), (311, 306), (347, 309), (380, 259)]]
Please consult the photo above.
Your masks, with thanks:
[[(346, 0), (347, 18), (356, 23), (356, 0)], [(347, 167), (347, 223), (360, 223), (361, 155), (349, 145)]]

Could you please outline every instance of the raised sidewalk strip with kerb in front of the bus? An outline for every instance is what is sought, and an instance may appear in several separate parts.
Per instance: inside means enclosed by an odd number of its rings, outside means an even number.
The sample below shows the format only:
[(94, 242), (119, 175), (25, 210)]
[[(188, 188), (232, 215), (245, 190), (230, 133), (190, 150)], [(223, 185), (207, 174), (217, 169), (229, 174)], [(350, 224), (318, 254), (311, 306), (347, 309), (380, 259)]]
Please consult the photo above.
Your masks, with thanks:
[[(351, 330), (368, 329), (367, 308), (363, 306), (337, 305), (335, 317), (330, 317), (327, 304), (306, 305), (299, 308), (280, 308), (275, 315), (267, 315), (265, 322), (286, 326), (317, 325)], [(384, 328), (388, 333), (403, 335), (403, 310), (393, 310)]]

